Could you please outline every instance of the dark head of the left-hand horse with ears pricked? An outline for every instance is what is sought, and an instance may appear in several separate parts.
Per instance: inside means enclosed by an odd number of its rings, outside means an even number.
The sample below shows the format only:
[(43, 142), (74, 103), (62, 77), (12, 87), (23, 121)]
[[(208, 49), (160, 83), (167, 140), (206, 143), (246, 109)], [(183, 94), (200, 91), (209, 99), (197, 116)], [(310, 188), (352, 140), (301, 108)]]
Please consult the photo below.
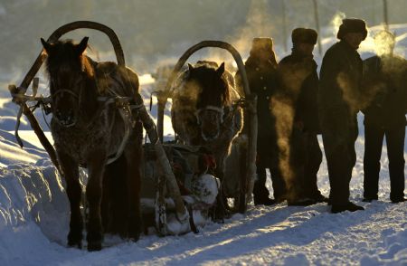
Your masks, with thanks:
[[(94, 82), (93, 68), (83, 54), (88, 46), (89, 37), (79, 44), (71, 41), (47, 43), (41, 39), (44, 52), (48, 55), (46, 66), (50, 77), (52, 97), (52, 119), (62, 127), (74, 126), (80, 118), (80, 107), (86, 94), (84, 87)], [(93, 84), (94, 85), (94, 84)], [(91, 103), (86, 103), (91, 108)]]

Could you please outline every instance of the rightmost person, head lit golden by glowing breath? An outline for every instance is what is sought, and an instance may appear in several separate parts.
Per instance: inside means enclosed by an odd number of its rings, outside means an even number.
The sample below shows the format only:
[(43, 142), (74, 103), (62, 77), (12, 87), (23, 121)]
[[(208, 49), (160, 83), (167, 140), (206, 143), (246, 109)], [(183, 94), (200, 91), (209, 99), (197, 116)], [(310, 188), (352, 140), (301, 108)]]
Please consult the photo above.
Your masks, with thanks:
[(390, 199), (404, 202), (404, 138), (407, 109), (407, 61), (393, 54), (395, 36), (374, 37), (376, 55), (364, 61), (364, 201), (378, 199), (380, 157), (386, 138)]

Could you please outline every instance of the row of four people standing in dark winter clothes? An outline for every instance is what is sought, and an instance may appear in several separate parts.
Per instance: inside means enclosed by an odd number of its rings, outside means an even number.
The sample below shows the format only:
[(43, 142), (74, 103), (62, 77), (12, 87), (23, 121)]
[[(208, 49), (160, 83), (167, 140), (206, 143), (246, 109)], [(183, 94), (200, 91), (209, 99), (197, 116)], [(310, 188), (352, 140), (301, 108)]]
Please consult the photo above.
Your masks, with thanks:
[[(386, 137), (393, 203), (404, 198), (404, 136), (407, 112), (407, 61), (393, 55), (395, 37), (375, 36), (377, 55), (362, 61), (357, 49), (367, 36), (360, 19), (344, 19), (339, 42), (325, 53), (317, 74), (313, 59), (317, 32), (297, 28), (292, 52), (277, 63), (270, 38), (254, 38), (245, 67), (258, 96), (258, 156), (254, 204), (327, 202), (331, 212), (364, 210), (349, 201), (356, 162), (357, 113), (364, 113), (364, 201), (378, 199), (383, 137)], [(240, 75), (236, 75), (239, 81)], [(239, 85), (239, 82), (238, 82)], [(326, 198), (317, 188), (322, 134), (331, 186)], [(274, 199), (266, 187), (270, 170)]]

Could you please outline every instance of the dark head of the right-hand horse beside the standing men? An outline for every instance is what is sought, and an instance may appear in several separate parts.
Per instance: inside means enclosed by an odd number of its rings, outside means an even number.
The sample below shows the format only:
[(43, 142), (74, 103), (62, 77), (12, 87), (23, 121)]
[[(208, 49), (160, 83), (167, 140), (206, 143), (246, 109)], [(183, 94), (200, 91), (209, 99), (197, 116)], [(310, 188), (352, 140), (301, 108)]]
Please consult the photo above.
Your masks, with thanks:
[(196, 119), (204, 140), (213, 140), (221, 132), (223, 108), (229, 104), (229, 84), (225, 79), (224, 62), (220, 67), (211, 64), (188, 64), (188, 83), (198, 87)]

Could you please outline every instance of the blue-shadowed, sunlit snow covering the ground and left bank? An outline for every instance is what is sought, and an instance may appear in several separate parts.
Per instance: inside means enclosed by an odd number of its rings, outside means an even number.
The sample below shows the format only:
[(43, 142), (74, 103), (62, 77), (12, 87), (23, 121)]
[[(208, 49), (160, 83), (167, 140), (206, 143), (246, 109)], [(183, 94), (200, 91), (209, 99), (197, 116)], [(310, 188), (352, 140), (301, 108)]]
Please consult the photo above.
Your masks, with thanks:
[[(394, 25), (403, 36), (406, 25)], [(404, 34), (404, 35), (403, 35)], [(330, 45), (332, 40), (324, 40)], [(365, 48), (368, 51), (368, 48)], [(366, 56), (367, 53), (364, 54)], [(281, 58), (281, 57), (280, 57)], [(21, 70), (23, 73), (27, 70)], [(106, 236), (100, 252), (68, 248), (69, 202), (64, 183), (24, 119), (14, 139), (16, 107), (0, 76), (0, 265), (407, 265), (407, 203), (392, 204), (386, 149), (383, 147), (379, 200), (363, 203), (364, 130), (356, 142), (357, 162), (351, 181), (351, 200), (365, 211), (330, 214), (327, 204), (308, 207), (277, 204), (252, 206), (225, 223), (208, 223), (200, 233), (160, 238), (142, 235), (138, 242)], [(45, 82), (45, 81), (43, 81)], [(146, 105), (149, 76), (142, 83)], [(153, 115), (156, 115), (154, 112)], [(37, 117), (41, 117), (38, 114)], [(167, 134), (172, 133), (166, 118)], [(43, 128), (46, 125), (42, 122)], [(322, 147), (322, 143), (321, 147)], [(404, 145), (404, 155), (407, 150)], [(405, 171), (404, 171), (405, 172)], [(270, 182), (270, 179), (269, 181)], [(270, 183), (268, 183), (272, 190)], [(318, 186), (329, 194), (327, 164), (318, 173)]]

